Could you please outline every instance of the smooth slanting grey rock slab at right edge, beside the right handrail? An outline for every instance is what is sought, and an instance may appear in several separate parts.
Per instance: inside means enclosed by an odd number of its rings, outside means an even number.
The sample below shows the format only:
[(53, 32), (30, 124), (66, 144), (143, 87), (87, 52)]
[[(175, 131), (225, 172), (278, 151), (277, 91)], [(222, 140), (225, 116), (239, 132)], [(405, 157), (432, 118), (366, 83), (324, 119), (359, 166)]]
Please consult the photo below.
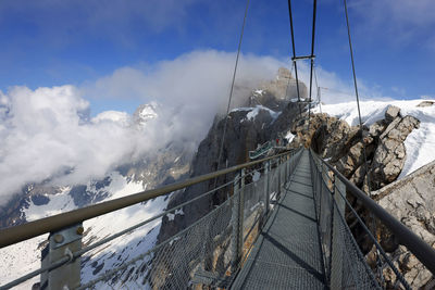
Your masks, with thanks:
[[(435, 249), (435, 162), (375, 192), (378, 204)], [(391, 239), (390, 239), (391, 240)], [(397, 245), (391, 259), (397, 261), (412, 289), (423, 288), (435, 278), (406, 247)], [(391, 244), (387, 244), (390, 248)], [(393, 276), (386, 269), (385, 274)], [(394, 282), (394, 280), (391, 281)], [(432, 286), (435, 287), (435, 286)], [(431, 287), (424, 289), (433, 289)]]

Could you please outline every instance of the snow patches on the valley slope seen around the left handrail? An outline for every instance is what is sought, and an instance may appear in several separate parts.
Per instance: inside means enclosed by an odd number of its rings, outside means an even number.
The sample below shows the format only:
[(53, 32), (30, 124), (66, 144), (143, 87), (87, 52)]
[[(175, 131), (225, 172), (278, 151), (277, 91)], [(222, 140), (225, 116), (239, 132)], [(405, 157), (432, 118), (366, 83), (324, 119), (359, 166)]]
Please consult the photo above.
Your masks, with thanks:
[[(119, 173), (110, 175), (111, 181), (104, 188), (108, 197), (104, 199), (117, 199), (146, 189), (141, 181), (134, 181)], [(49, 201), (45, 204), (35, 204), (32, 200), (22, 214), (27, 220), (35, 220), (51, 216), (61, 212), (76, 209), (71, 194), (71, 187), (62, 188), (55, 194), (47, 194)], [(136, 204), (111, 214), (86, 220), (84, 227), (86, 235), (84, 244), (96, 242), (104, 237), (116, 234), (125, 228), (136, 225), (152, 216), (158, 215), (165, 209), (165, 197), (157, 198), (145, 204)], [(178, 213), (181, 214), (181, 213)], [(113, 265), (120, 265), (129, 261), (140, 253), (151, 249), (157, 241), (161, 219), (153, 220), (137, 230), (117, 238), (104, 247), (97, 248), (83, 256), (82, 282), (88, 282), (92, 278), (104, 273)], [(40, 267), (41, 244), (48, 235), (44, 235), (22, 243), (0, 249), (0, 281), (4, 283)], [(16, 289), (29, 289), (39, 280), (39, 276), (21, 285)], [(100, 285), (101, 286), (101, 285)]]

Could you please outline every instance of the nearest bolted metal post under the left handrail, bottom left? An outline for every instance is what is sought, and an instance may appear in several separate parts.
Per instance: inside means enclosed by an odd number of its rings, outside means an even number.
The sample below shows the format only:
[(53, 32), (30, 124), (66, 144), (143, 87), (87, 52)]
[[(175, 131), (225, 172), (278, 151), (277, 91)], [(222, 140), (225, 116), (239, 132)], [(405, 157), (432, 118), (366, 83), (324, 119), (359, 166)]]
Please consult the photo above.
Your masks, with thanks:
[(41, 252), (42, 267), (70, 256), (69, 263), (50, 272), (45, 272), (40, 277), (40, 289), (75, 289), (80, 286), (80, 257), (73, 259), (73, 253), (82, 249), (82, 224), (51, 232), (49, 243)]

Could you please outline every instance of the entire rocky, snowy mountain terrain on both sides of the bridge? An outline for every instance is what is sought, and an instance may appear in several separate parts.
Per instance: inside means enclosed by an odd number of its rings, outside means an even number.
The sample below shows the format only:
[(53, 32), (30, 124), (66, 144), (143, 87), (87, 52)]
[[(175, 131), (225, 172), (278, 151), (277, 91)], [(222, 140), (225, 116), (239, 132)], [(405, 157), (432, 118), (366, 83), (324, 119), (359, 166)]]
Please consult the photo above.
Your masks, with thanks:
[[(302, 99), (307, 98), (307, 87), (299, 83)], [(245, 88), (246, 89), (246, 88)], [(248, 152), (258, 146), (276, 138), (285, 137), (290, 141), (289, 148), (311, 147), (322, 157), (327, 159), (346, 177), (366, 192), (391, 214), (418, 232), (427, 242), (434, 242), (434, 206), (433, 166), (427, 165), (412, 175), (412, 171), (435, 160), (435, 115), (431, 101), (366, 102), (362, 103), (363, 129), (356, 126), (356, 110), (350, 103), (322, 105), (314, 108), (310, 123), (307, 119), (307, 108), (299, 108), (296, 80), (286, 68), (279, 68), (277, 77), (264, 81), (259, 88), (250, 90), (240, 108), (228, 115), (216, 115), (206, 138), (196, 152), (183, 142), (169, 142), (163, 147), (145, 154), (136, 162), (117, 166), (100, 180), (89, 180), (84, 185), (55, 187), (47, 182), (28, 185), (22, 194), (16, 196), (8, 206), (0, 211), (0, 226), (12, 226), (37, 219), (55, 213), (86, 206), (103, 200), (121, 198), (144, 189), (171, 184), (187, 177), (207, 174), (219, 168), (229, 167), (249, 161)], [(301, 111), (301, 114), (300, 114)], [(159, 105), (145, 104), (138, 108), (133, 116), (108, 112), (95, 122), (122, 122), (133, 124), (139, 133), (159, 115)], [(222, 136), (226, 124), (226, 135), (219, 160)], [(363, 148), (369, 161), (368, 171), (363, 166)], [(408, 176), (409, 175), (409, 176)], [(227, 175), (192, 186), (186, 190), (174, 192), (144, 204), (100, 216), (85, 222), (87, 232), (84, 242), (89, 243), (108, 235), (125, 229), (154, 216), (166, 209), (184, 203), (215, 186), (234, 178)], [(398, 181), (397, 181), (398, 180)], [(424, 184), (424, 186), (423, 186)], [(397, 185), (397, 186), (395, 186)], [(398, 190), (411, 185), (410, 190)], [(370, 222), (370, 216), (351, 196), (352, 205)], [(103, 250), (96, 250), (84, 256), (83, 282), (104, 273), (113, 266), (133, 259), (151, 249), (156, 243), (165, 241), (182, 229), (209, 213), (215, 205), (226, 199), (226, 192), (200, 199), (185, 205), (173, 215), (126, 235), (122, 241), (114, 240)], [(407, 219), (408, 218), (408, 219)], [(363, 252), (371, 254), (372, 243), (363, 235), (363, 230), (347, 214), (347, 219)], [(370, 223), (369, 223), (370, 224)], [(108, 226), (110, 225), (110, 226)], [(395, 263), (406, 273), (407, 280), (413, 287), (430, 285), (431, 277), (421, 270), (421, 265), (412, 259), (406, 249), (397, 245), (385, 228), (378, 227), (382, 244), (386, 247)], [(38, 237), (0, 250), (0, 281), (29, 272), (39, 266), (40, 244), (47, 237)], [(123, 249), (120, 251), (119, 249)], [(176, 254), (172, 254), (176, 257)], [(170, 257), (166, 257), (166, 261)], [(158, 260), (158, 259), (157, 259)], [(12, 261), (12, 262), (11, 262)], [(12, 267), (13, 265), (13, 267)], [(152, 261), (142, 261), (114, 276), (109, 283), (113, 288), (137, 288), (134, 282), (138, 277), (145, 279)], [(177, 265), (170, 263), (167, 265)], [(159, 266), (159, 265), (153, 265)], [(16, 272), (16, 268), (21, 268)], [(33, 268), (32, 268), (33, 267)], [(167, 273), (171, 269), (165, 268)], [(388, 274), (388, 273), (386, 273)], [(37, 279), (25, 287), (32, 286)], [(99, 285), (100, 288), (107, 287)], [(98, 288), (98, 287), (97, 287)]]

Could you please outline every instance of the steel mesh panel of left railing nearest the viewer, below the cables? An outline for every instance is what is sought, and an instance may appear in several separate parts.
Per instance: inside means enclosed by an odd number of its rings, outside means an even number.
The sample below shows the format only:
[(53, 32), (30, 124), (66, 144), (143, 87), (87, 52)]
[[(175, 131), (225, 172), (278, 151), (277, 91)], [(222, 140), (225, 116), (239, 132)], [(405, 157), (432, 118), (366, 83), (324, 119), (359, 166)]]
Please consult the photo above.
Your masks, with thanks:
[(201, 273), (211, 273), (217, 282), (225, 279), (231, 267), (234, 198), (135, 263), (103, 274), (102, 281), (90, 282), (88, 288), (187, 289)]

